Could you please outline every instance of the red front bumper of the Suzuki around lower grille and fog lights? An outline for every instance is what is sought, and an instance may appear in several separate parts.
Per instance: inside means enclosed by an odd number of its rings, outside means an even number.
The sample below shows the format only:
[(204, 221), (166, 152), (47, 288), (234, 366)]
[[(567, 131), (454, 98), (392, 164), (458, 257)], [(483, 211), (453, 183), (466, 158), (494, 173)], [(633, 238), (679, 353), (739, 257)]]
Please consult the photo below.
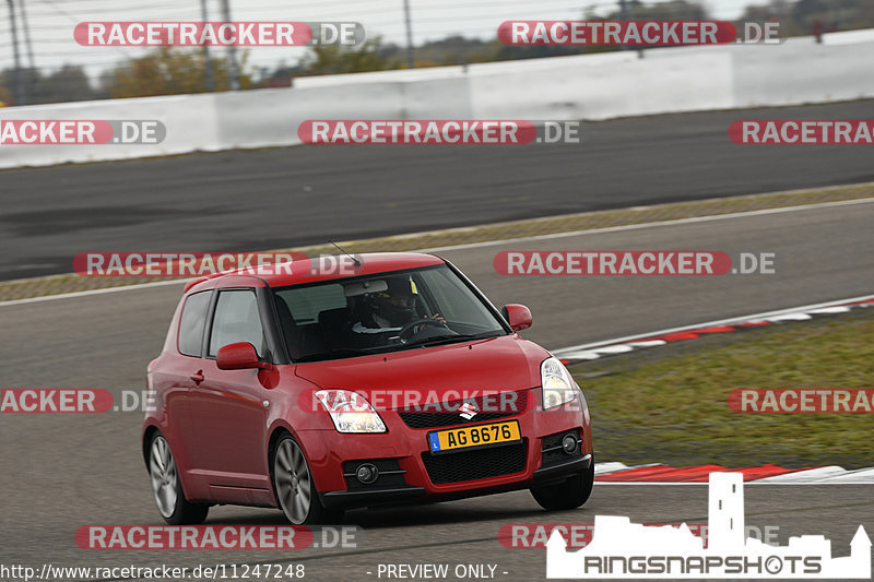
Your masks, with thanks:
[[(583, 415), (582, 407), (575, 405), (578, 401), (544, 412), (540, 409), (540, 389), (532, 389), (528, 402), (528, 408), (516, 416), (482, 423), (518, 420), (522, 443), (516, 444), (515, 450), (507, 446), (504, 450), (495, 447), (489, 454), (475, 455), (462, 450), (439, 455), (441, 460), (448, 461), (444, 465), (448, 464), (450, 471), (454, 464), (451, 461), (458, 461), (459, 465), (466, 463), (469, 466), (480, 463), (481, 460), (484, 463), (495, 463), (497, 468), (494, 476), (486, 471), (472, 472), (477, 474), (475, 478), (464, 476), (464, 472), (460, 472), (454, 480), (447, 480), (445, 474), (437, 476), (427, 442), (427, 433), (435, 429), (411, 428), (394, 411), (380, 411), (388, 428), (383, 433), (341, 435), (333, 430), (306, 430), (300, 432), (299, 438), (316, 486), (322, 491), (322, 504), (335, 509), (444, 501), (527, 489), (560, 483), (589, 470), (593, 461), (590, 429), (586, 423), (588, 414)], [(545, 439), (574, 430), (580, 437), (579, 449), (574, 455), (566, 459), (552, 456), (547, 460), (543, 452), (544, 447), (548, 448), (544, 444), (547, 442)], [(519, 452), (520, 447), (523, 452)], [(508, 461), (510, 455), (513, 455), (511, 462)], [(354, 476), (350, 476), (349, 467), (365, 462), (392, 463), (387, 468), (398, 471), (390, 472), (395, 473), (391, 479), (379, 479), (364, 487), (354, 482)], [(430, 465), (430, 468), (426, 465)]]

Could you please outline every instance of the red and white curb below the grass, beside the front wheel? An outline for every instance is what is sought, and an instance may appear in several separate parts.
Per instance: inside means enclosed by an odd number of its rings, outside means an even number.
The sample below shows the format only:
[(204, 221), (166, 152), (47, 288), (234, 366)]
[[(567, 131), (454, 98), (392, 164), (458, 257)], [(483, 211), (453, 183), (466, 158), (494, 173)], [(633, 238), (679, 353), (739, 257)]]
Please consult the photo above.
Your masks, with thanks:
[(731, 471), (742, 473), (745, 483), (761, 485), (874, 485), (874, 467), (848, 471), (837, 465), (805, 468), (786, 468), (760, 465), (727, 468), (721, 465), (672, 467), (661, 463), (631, 465), (601, 463), (594, 466), (594, 480), (599, 484), (649, 485), (706, 485), (710, 473)]

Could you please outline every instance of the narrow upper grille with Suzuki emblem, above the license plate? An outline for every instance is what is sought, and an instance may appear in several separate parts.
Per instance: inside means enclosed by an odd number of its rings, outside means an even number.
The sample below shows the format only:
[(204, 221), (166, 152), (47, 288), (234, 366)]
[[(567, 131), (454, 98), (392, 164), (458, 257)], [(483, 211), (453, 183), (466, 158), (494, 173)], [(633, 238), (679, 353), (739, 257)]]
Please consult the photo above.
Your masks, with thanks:
[[(468, 403), (471, 408), (462, 409)], [(435, 411), (435, 408), (438, 408)], [(522, 414), (528, 408), (528, 390), (492, 394), (466, 400), (425, 404), (418, 407), (399, 408), (398, 414), (410, 428), (442, 428), (458, 425), (487, 423), (498, 418), (507, 418)], [(461, 416), (472, 409), (476, 414), (472, 418)], [(485, 412), (480, 412), (485, 411)]]

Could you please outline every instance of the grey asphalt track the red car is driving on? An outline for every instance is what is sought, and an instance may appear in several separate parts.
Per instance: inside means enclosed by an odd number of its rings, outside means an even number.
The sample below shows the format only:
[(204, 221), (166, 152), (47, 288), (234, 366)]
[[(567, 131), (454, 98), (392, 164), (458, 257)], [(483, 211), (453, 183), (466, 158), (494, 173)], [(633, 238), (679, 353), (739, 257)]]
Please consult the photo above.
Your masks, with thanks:
[[(548, 241), (446, 251), (496, 304), (528, 304), (524, 334), (547, 347), (606, 340), (769, 309), (871, 293), (874, 203), (806, 209)], [(500, 250), (684, 249), (776, 252), (776, 275), (720, 277), (506, 277)], [(3, 388), (139, 389), (163, 343), (180, 285), (0, 306)], [(593, 419), (597, 423), (597, 411)], [(357, 548), (271, 551), (86, 551), (86, 524), (161, 524), (139, 452), (141, 414), (3, 415), (0, 418), (0, 562), (67, 566), (306, 563), (308, 580), (377, 580), (380, 563), (492, 563), (498, 580), (545, 577), (545, 550), (507, 549), (509, 523), (592, 523), (595, 514), (636, 523), (707, 520), (700, 486), (595, 486), (589, 503), (547, 514), (525, 491), (404, 509), (357, 510)], [(595, 453), (598, 443), (595, 442)], [(657, 462), (658, 451), (653, 450)], [(713, 463), (719, 463), (713, 459)], [(874, 532), (871, 486), (746, 487), (746, 521), (789, 535), (823, 534), (849, 554), (859, 524)], [(275, 510), (214, 508), (208, 523), (280, 524)], [(374, 574), (367, 574), (370, 571)], [(507, 572), (504, 574), (503, 572)], [(450, 578), (451, 579), (451, 578)], [(385, 580), (385, 578), (382, 579)]]

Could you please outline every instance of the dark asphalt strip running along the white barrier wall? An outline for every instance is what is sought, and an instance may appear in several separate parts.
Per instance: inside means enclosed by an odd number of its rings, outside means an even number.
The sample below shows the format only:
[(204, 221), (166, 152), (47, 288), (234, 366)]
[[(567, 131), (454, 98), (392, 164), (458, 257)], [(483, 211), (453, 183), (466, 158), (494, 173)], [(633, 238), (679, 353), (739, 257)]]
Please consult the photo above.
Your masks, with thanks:
[[(578, 145), (298, 146), (0, 171), (0, 280), (88, 251), (256, 251), (874, 180), (870, 147), (753, 146), (736, 119), (866, 119), (874, 100), (583, 124)], [(326, 209), (331, 209), (326, 212)]]

